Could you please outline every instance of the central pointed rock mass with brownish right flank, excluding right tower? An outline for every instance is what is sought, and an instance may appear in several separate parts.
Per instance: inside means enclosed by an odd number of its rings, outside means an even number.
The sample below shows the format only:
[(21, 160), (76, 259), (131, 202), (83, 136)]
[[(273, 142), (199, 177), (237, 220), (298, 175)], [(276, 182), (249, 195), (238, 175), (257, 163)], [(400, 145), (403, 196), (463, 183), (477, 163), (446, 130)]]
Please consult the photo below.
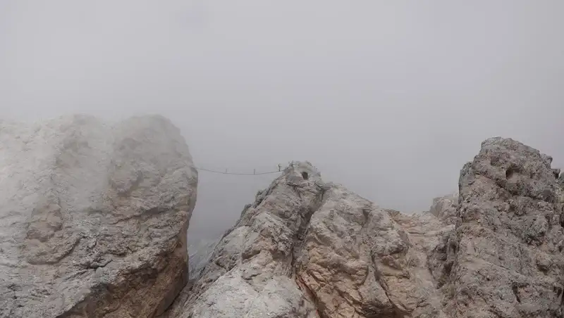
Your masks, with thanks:
[(164, 317), (445, 317), (427, 253), (452, 227), (379, 208), (295, 163)]

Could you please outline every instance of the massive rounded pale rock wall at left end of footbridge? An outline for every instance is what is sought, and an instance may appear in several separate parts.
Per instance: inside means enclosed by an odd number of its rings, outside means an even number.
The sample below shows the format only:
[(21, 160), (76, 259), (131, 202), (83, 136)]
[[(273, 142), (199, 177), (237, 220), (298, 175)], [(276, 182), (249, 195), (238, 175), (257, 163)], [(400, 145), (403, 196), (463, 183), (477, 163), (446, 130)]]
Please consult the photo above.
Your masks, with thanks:
[(0, 122), (0, 317), (154, 317), (185, 285), (197, 172), (163, 117)]

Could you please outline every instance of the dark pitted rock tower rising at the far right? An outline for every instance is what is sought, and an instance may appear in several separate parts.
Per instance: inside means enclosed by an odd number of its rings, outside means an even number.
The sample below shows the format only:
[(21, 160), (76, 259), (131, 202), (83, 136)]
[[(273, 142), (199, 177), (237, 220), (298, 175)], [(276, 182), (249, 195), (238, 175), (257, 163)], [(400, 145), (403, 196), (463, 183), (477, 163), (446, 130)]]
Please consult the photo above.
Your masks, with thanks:
[(562, 202), (552, 158), (492, 138), (460, 173), (443, 288), (449, 317), (563, 317)]

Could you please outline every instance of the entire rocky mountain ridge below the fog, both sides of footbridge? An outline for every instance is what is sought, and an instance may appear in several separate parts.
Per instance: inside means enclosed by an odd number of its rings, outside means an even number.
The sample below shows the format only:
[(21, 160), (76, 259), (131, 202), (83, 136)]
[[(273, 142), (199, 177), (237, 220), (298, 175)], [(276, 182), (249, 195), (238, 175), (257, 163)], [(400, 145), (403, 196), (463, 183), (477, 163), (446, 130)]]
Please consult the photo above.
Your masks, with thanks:
[(293, 163), (218, 241), (162, 117), (0, 123), (0, 317), (564, 317), (564, 191), (492, 138), (459, 191), (406, 215)]

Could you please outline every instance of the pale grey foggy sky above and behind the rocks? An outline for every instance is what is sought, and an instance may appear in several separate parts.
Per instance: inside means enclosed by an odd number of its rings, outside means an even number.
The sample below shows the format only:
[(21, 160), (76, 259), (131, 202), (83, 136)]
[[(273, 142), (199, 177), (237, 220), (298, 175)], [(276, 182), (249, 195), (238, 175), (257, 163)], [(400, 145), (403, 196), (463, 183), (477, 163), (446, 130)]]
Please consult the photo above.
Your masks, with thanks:
[[(482, 140), (564, 167), (564, 2), (0, 1), (0, 115), (161, 113), (197, 165), (325, 179), (410, 212)], [(200, 173), (190, 235), (274, 178)]]

